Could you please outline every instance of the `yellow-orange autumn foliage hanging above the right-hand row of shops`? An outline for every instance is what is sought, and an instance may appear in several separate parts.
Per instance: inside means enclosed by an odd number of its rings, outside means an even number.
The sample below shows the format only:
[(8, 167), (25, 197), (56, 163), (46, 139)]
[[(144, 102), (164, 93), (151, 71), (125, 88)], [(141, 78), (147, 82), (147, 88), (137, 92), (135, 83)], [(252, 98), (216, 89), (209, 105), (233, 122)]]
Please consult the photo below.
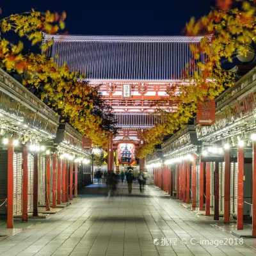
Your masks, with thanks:
[[(191, 18), (186, 24), (186, 35), (202, 36), (199, 47), (191, 45), (193, 58), (184, 70), (184, 83), (169, 88), (170, 101), (177, 111), (158, 111), (164, 116), (161, 124), (145, 132), (139, 158), (154, 151), (163, 136), (188, 124), (196, 113), (196, 104), (204, 97), (214, 99), (236, 81), (236, 74), (223, 69), (222, 61), (232, 62), (236, 55), (246, 56), (256, 41), (255, 1), (218, 0), (216, 8), (199, 20)], [(193, 71), (193, 72), (191, 72)], [(193, 75), (191, 75), (193, 74)], [(179, 94), (177, 95), (177, 89)]]

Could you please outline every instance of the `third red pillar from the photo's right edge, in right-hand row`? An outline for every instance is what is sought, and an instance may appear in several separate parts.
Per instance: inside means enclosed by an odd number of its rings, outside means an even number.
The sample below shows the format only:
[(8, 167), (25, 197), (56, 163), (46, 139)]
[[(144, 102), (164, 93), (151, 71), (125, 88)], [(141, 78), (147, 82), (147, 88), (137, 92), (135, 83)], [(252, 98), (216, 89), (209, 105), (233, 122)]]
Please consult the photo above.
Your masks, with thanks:
[(225, 180), (224, 180), (224, 223), (229, 223), (230, 214), (230, 149), (225, 149)]

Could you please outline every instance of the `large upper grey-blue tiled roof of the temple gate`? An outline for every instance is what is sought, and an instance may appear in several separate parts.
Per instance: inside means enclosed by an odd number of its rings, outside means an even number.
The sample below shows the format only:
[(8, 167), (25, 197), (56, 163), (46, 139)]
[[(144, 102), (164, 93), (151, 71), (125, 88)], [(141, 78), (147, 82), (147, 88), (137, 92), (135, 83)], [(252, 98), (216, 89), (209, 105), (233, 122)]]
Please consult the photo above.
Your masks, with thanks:
[[(179, 80), (191, 59), (190, 44), (200, 37), (187, 36), (63, 36), (54, 38), (49, 49), (58, 55), (58, 65), (88, 79)], [(44, 43), (44, 42), (43, 42)]]

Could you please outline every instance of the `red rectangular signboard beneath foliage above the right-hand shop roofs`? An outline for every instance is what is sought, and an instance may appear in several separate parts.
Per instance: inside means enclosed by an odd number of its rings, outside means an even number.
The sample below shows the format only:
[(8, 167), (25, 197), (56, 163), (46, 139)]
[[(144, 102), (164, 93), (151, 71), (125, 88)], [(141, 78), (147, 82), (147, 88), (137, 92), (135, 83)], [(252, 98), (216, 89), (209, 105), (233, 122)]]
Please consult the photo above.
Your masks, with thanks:
[(215, 100), (205, 98), (197, 104), (196, 123), (201, 125), (212, 125), (215, 122)]

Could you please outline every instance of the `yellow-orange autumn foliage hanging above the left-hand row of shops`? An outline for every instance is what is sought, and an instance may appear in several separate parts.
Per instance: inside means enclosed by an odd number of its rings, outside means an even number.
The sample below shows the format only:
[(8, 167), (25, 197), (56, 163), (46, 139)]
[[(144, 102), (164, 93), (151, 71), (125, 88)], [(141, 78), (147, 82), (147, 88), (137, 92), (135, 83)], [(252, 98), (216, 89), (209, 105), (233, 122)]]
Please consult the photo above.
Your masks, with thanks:
[[(63, 29), (65, 17), (65, 13), (32, 10), (0, 20), (0, 28), (2, 33), (14, 31), (20, 37), (26, 36), (35, 45), (42, 42), (43, 33), (54, 34)], [(51, 107), (63, 116), (61, 121), (68, 120), (77, 131), (89, 136), (94, 145), (106, 147), (115, 127), (113, 124), (104, 126), (102, 122), (104, 115), (111, 117), (111, 109), (102, 102), (98, 88), (83, 82), (84, 76), (70, 72), (67, 65), (58, 67), (53, 58), (47, 58), (45, 52), (51, 44), (51, 40), (45, 42), (42, 54), (22, 54), (22, 42), (13, 45), (0, 38), (0, 67), (6, 71), (26, 72), (29, 78), (23, 81), (25, 86), (43, 84), (42, 98), (47, 96)]]

